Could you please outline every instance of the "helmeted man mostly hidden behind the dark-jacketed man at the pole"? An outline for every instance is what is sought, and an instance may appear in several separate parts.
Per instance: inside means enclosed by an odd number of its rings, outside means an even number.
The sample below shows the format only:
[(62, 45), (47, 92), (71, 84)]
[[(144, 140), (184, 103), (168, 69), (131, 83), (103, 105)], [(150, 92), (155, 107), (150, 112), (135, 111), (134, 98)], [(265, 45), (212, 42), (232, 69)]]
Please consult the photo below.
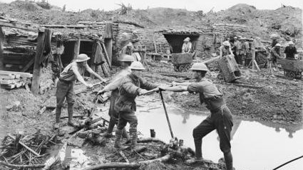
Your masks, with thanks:
[[(120, 59), (120, 62), (123, 67), (123, 70), (113, 79), (111, 83), (106, 85), (103, 90), (100, 90), (98, 92), (98, 94), (102, 94), (103, 92), (111, 92), (111, 105), (109, 106), (108, 110), (108, 115), (111, 117), (111, 119), (108, 124), (108, 131), (103, 134), (103, 136), (107, 138), (113, 137), (113, 127), (115, 127), (115, 124), (118, 124), (119, 115), (118, 112), (115, 112), (115, 100), (118, 98), (119, 95), (118, 87), (121, 83), (121, 80), (123, 80), (126, 75), (129, 75), (131, 73), (129, 66), (131, 63), (133, 63), (133, 56), (123, 55), (123, 58)], [(125, 128), (123, 128), (122, 136), (127, 139), (129, 138)]]

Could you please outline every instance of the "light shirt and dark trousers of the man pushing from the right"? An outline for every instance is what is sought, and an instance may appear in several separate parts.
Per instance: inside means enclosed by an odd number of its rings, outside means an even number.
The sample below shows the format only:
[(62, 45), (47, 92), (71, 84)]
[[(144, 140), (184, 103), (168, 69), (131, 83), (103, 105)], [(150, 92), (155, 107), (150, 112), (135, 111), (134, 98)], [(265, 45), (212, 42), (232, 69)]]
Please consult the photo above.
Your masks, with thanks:
[(199, 92), (200, 103), (205, 102), (211, 115), (203, 120), (192, 131), (195, 141), (201, 141), (208, 133), (217, 129), (220, 137), (220, 149), (223, 153), (230, 152), (230, 132), (232, 131), (232, 115), (223, 94), (217, 90), (210, 80), (203, 78), (200, 82), (188, 85), (188, 92)]

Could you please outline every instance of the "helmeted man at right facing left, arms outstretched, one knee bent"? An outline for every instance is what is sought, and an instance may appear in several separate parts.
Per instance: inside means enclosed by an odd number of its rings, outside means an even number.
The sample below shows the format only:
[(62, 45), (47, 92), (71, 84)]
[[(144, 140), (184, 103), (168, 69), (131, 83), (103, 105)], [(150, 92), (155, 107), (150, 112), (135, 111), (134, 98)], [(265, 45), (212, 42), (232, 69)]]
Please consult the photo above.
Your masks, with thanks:
[(207, 67), (204, 63), (194, 63), (192, 68), (195, 83), (173, 83), (175, 87), (162, 87), (160, 90), (169, 90), (174, 92), (198, 92), (200, 95), (200, 103), (205, 102), (207, 109), (211, 115), (203, 120), (192, 131), (195, 142), (195, 159), (187, 160), (188, 164), (202, 160), (202, 138), (213, 130), (217, 130), (220, 137), (220, 149), (224, 154), (227, 170), (232, 170), (232, 152), (230, 145), (230, 132), (232, 131), (232, 114), (228, 109), (222, 92), (205, 78)]

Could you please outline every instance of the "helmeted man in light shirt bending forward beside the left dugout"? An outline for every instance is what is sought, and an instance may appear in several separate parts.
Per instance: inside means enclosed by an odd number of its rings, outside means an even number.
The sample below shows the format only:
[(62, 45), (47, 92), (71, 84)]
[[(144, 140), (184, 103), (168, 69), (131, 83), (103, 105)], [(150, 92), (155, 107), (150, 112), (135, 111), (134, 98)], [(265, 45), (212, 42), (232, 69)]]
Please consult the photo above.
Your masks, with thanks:
[(60, 73), (60, 77), (57, 83), (56, 90), (56, 123), (60, 122), (61, 110), (63, 107), (63, 102), (66, 98), (67, 100), (67, 110), (68, 110), (68, 125), (76, 126), (73, 123), (73, 103), (75, 102), (75, 92), (73, 91), (73, 86), (76, 80), (86, 85), (86, 87), (93, 87), (91, 84), (86, 83), (81, 75), (87, 70), (88, 73), (95, 75), (98, 79), (105, 82), (100, 75), (95, 73), (87, 63), (90, 58), (86, 54), (78, 55), (77, 59), (72, 63), (68, 64), (66, 68)]

